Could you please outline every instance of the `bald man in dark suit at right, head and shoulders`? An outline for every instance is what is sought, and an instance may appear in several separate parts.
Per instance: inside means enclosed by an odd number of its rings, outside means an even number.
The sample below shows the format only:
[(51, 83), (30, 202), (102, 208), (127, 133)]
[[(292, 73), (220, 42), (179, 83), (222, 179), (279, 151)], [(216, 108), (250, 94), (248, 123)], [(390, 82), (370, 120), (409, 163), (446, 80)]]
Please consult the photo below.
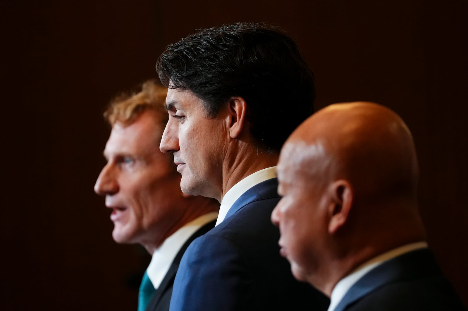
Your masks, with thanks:
[(280, 252), (329, 311), (465, 310), (427, 248), (416, 150), (396, 113), (328, 106), (291, 134), (277, 170)]

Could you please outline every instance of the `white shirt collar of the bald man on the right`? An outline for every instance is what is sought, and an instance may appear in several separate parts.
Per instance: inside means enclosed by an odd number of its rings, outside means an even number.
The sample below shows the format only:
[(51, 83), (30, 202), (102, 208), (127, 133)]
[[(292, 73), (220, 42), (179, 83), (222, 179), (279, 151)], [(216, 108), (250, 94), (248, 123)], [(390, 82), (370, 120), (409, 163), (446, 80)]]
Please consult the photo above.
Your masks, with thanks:
[(366, 275), (367, 272), (376, 268), (377, 266), (381, 265), (383, 262), (386, 262), (392, 258), (400, 256), (402, 254), (409, 253), (411, 251), (420, 249), (420, 248), (427, 248), (427, 242), (415, 242), (409, 243), (400, 247), (396, 247), (388, 252), (378, 255), (373, 259), (363, 263), (358, 268), (354, 269), (351, 274), (345, 276), (341, 279), (338, 283), (336, 283), (333, 291), (331, 292), (330, 297), (330, 305), (328, 311), (335, 310), (336, 306), (339, 304), (341, 299), (343, 299), (344, 295), (348, 292), (348, 290), (353, 286), (358, 280)]

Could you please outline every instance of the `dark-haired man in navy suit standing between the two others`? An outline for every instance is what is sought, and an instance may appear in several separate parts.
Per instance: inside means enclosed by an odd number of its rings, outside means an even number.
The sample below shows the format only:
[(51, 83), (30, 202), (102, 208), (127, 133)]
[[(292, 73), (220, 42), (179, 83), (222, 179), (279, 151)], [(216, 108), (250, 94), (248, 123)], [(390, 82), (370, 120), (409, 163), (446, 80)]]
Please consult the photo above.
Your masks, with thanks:
[(270, 222), (280, 148), (313, 112), (314, 76), (296, 43), (235, 23), (169, 45), (156, 67), (169, 88), (161, 151), (174, 155), (183, 192), (221, 203), (215, 228), (183, 256), (170, 310), (326, 310), (292, 277)]

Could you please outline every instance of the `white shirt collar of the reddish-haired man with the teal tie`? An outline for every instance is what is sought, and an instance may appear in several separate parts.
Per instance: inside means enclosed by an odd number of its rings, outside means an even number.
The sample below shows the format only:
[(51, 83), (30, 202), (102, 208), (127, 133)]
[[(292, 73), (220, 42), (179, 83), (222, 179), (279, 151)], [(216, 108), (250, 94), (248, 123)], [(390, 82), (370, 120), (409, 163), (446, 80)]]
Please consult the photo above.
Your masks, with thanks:
[(160, 247), (156, 248), (148, 269), (146, 269), (146, 273), (148, 274), (151, 283), (153, 283), (155, 290), (157, 290), (161, 285), (164, 276), (168, 273), (174, 258), (177, 253), (179, 253), (179, 250), (185, 241), (187, 241), (199, 228), (216, 219), (217, 216), (217, 212), (211, 212), (193, 219), (164, 240)]

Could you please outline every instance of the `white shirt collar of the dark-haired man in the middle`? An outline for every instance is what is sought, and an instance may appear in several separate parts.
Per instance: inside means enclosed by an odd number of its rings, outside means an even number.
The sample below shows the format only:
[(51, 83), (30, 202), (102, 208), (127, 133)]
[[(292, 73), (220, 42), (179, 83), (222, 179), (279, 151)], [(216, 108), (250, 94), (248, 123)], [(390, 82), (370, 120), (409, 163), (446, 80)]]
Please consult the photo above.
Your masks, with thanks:
[(219, 215), (218, 220), (216, 221), (216, 226), (218, 226), (226, 217), (227, 212), (237, 201), (238, 198), (244, 194), (245, 191), (249, 190), (256, 184), (260, 184), (261, 182), (275, 178), (276, 177), (276, 166), (268, 167), (263, 170), (256, 171), (253, 174), (242, 179), (240, 182), (232, 186), (226, 194), (224, 195), (223, 199), (221, 200), (221, 206), (219, 207)]

